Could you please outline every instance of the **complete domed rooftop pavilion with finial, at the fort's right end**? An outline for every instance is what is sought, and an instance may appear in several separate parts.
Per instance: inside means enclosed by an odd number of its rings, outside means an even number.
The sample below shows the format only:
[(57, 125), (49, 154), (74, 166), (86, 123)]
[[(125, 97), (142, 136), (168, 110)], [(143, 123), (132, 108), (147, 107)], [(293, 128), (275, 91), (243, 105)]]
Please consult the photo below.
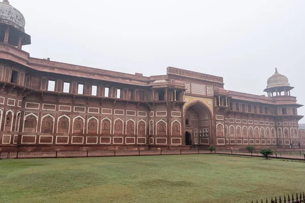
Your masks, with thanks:
[(290, 86), (288, 78), (279, 74), (276, 68), (276, 73), (267, 80), (267, 88), (264, 91), (268, 93), (268, 96), (273, 96), (273, 93), (276, 93), (276, 96), (281, 96), (281, 92), (284, 92), (285, 96), (290, 96), (291, 89), (293, 87)]

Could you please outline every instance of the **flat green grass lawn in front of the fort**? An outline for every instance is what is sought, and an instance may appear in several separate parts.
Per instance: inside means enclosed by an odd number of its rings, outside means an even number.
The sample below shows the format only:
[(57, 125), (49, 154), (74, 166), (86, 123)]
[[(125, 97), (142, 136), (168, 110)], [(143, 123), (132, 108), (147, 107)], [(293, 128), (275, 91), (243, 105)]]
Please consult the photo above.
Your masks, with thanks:
[(0, 160), (0, 202), (251, 202), (305, 190), (305, 163), (215, 154)]

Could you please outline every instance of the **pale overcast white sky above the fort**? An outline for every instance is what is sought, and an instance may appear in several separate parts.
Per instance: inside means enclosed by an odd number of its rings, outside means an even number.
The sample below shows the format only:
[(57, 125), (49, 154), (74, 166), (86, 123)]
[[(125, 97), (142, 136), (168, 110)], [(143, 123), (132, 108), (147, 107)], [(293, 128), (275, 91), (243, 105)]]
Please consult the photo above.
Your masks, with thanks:
[(305, 104), (303, 0), (9, 1), (25, 17), (32, 57), (145, 76), (174, 66), (259, 95), (278, 67)]

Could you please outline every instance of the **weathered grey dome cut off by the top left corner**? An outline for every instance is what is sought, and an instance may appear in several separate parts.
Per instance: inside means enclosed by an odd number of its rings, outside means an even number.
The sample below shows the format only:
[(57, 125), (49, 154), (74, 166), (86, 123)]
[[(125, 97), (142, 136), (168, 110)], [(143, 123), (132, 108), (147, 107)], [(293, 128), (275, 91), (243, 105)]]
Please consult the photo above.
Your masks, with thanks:
[(20, 11), (10, 5), (8, 0), (0, 2), (0, 23), (11, 25), (24, 32), (24, 17)]

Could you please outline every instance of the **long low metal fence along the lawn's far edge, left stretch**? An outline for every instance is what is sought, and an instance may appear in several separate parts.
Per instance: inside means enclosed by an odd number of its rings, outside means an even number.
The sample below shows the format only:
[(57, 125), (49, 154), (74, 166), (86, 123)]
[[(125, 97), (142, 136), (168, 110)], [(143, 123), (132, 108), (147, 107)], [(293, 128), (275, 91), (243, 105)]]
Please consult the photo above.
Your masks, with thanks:
[(178, 154), (206, 154), (206, 150), (69, 150), (69, 151), (19, 151), (0, 152), (0, 159), (10, 158), (74, 158), (107, 156), (153, 156)]

